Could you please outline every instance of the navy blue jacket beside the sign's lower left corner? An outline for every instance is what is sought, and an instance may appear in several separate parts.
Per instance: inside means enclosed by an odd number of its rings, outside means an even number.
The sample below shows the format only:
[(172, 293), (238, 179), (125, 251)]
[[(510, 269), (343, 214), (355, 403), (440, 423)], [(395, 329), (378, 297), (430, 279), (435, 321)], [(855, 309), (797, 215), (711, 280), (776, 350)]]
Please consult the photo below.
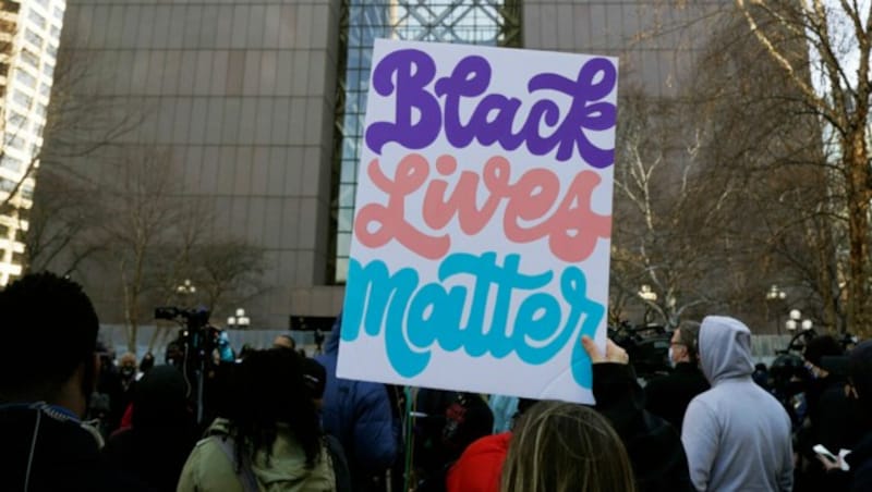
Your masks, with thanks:
[(325, 432), (339, 439), (346, 451), (354, 490), (366, 490), (373, 477), (384, 473), (393, 464), (399, 447), (399, 425), (384, 384), (336, 377), (341, 322), (340, 313), (324, 355), (316, 357), (327, 370), (323, 423)]

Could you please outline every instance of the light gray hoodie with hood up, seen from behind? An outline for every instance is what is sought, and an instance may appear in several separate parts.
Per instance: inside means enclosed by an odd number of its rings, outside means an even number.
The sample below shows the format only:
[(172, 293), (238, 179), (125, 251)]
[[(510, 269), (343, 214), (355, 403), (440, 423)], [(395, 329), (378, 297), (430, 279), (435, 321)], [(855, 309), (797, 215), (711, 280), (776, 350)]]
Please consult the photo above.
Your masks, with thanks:
[(681, 442), (700, 491), (790, 491), (790, 418), (751, 379), (751, 332), (741, 321), (708, 316), (700, 328), (700, 365), (712, 389), (688, 406)]

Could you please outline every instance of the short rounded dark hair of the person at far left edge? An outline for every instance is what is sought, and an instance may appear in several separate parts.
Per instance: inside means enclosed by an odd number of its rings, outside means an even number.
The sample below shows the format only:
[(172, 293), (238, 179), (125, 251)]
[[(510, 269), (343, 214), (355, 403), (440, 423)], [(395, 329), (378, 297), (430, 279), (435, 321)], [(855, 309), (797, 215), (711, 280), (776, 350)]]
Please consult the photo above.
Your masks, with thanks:
[(0, 292), (0, 336), (15, 347), (0, 357), (0, 401), (50, 399), (83, 364), (93, 380), (99, 321), (81, 285), (49, 272), (27, 274)]

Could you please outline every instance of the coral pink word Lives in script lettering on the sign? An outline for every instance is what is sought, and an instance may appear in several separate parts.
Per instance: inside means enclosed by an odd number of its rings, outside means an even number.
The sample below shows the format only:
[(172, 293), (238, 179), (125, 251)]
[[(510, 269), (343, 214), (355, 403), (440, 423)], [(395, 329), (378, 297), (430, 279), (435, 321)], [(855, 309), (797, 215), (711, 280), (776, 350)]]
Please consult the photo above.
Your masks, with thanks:
[[(584, 261), (594, 253), (598, 239), (611, 234), (611, 216), (591, 209), (594, 189), (601, 183), (594, 171), (577, 172), (561, 194), (558, 175), (547, 168), (529, 170), (512, 183), (511, 167), (501, 157), (488, 159), (481, 172), (461, 172), (455, 189), (449, 192), (444, 177), (456, 170), (455, 158), (443, 156), (437, 159), (433, 176), (429, 162), (411, 153), (395, 168), (393, 176), (387, 176), (379, 160), (372, 160), (366, 173), (388, 199), (387, 205), (368, 204), (361, 208), (354, 223), (356, 239), (370, 248), (397, 241), (422, 258), (438, 259), (451, 248), (450, 235), (440, 232), (451, 219), (457, 217), (460, 230), (473, 236), (494, 220), (501, 202), (506, 204), (501, 222), (509, 243), (547, 238), (552, 254), (564, 261)], [(423, 231), (408, 219), (413, 212), (407, 210), (405, 201), (416, 193), (424, 193), (420, 213), (435, 233)], [(476, 205), (480, 194), (486, 196), (481, 208)], [(537, 223), (530, 225), (532, 221)]]

